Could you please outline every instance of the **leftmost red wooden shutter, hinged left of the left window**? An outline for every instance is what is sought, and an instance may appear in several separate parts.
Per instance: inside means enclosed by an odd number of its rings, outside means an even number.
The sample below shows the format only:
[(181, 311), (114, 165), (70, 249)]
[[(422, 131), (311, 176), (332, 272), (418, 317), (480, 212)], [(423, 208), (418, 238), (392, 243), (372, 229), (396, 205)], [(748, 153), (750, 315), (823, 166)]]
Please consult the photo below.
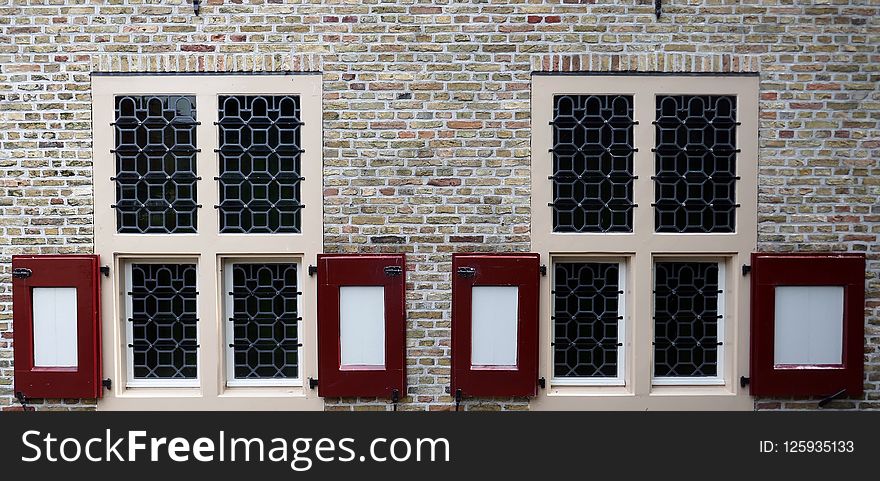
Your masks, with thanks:
[[(97, 255), (12, 257), (17, 393), (28, 398), (101, 397), (99, 263)], [(61, 302), (53, 305), (55, 295), (55, 299), (64, 297), (68, 306), (75, 298), (76, 312), (67, 311)], [(75, 324), (65, 326), (72, 335), (75, 325), (75, 339), (68, 340), (70, 344), (65, 344), (64, 333), (53, 331), (53, 325), (42, 320), (65, 316), (75, 316)], [(43, 327), (37, 326), (38, 322)], [(64, 347), (53, 349), (56, 344)], [(53, 365), (53, 356), (61, 365)]]

